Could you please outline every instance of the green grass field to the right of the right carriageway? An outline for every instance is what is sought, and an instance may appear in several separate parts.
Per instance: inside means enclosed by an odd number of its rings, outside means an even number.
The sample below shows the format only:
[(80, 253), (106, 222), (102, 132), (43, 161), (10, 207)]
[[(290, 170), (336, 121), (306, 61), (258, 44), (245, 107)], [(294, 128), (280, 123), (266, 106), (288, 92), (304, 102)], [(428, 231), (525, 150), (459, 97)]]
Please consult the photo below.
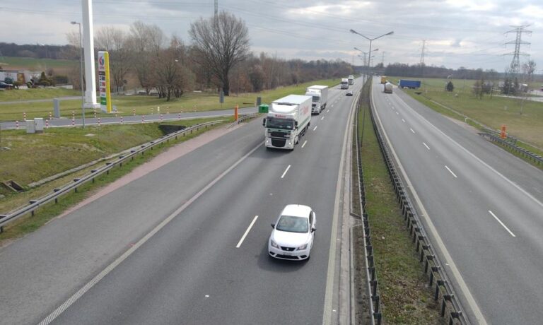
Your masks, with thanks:
[[(389, 77), (395, 84), (397, 79)], [(477, 99), (472, 93), (474, 84), (472, 80), (452, 79), (455, 85), (452, 92), (445, 91), (446, 79), (423, 78), (422, 81), (421, 89), (403, 91), (428, 107), (457, 119), (463, 120), (459, 115), (436, 105), (435, 102), (495, 130), (505, 124), (510, 136), (543, 148), (543, 102), (506, 98), (498, 92), (494, 92), (492, 96), (485, 94), (482, 99)]]

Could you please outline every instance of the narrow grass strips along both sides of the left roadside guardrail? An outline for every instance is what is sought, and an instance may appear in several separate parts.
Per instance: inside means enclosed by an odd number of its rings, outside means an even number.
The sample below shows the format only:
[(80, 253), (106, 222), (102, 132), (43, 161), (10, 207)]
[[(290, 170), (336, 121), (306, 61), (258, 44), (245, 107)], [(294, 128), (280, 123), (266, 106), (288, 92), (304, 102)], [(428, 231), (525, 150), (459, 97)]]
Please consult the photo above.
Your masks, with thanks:
[[(184, 122), (187, 123), (187, 121)], [(204, 122), (204, 120), (202, 119), (192, 120), (189, 121), (188, 125), (199, 124), (202, 122)], [(223, 124), (218, 124), (217, 126), (221, 125)], [(158, 129), (158, 126), (156, 126), (156, 128)], [(213, 129), (213, 127), (211, 127), (210, 129)], [(93, 195), (102, 187), (105, 187), (107, 184), (114, 182), (116, 179), (119, 179), (119, 177), (127, 175), (129, 172), (134, 170), (135, 167), (138, 167), (139, 165), (147, 162), (148, 160), (151, 160), (152, 158), (156, 157), (156, 155), (162, 153), (164, 150), (170, 148), (171, 146), (175, 146), (182, 141), (187, 141), (189, 138), (194, 138), (195, 136), (198, 136), (199, 134), (202, 134), (206, 130), (210, 129), (200, 129), (199, 131), (194, 131), (192, 134), (187, 134), (187, 136), (179, 138), (178, 141), (162, 143), (153, 150), (147, 150), (144, 155), (136, 155), (134, 157), (134, 160), (124, 162), (122, 164), (122, 167), (115, 167), (110, 170), (109, 175), (100, 175), (96, 177), (94, 184), (88, 182), (83, 186), (78, 187), (77, 193), (71, 192), (70, 194), (62, 196), (59, 199), (58, 203), (48, 203), (42, 206), (36, 211), (34, 216), (30, 214), (25, 215), (24, 217), (19, 218), (13, 223), (4, 226), (4, 232), (0, 233), (0, 246), (6, 241), (22, 237), (23, 235), (28, 234), (29, 232), (33, 232), (37, 228), (40, 228), (40, 226), (44, 225), (49, 220), (65, 211), (66, 208), (74, 206), (76, 203), (83, 201), (83, 199), (86, 199), (88, 196)], [(101, 162), (100, 164), (103, 163), (104, 162)], [(78, 175), (84, 175), (86, 172), (88, 172), (88, 170), (91, 170), (93, 167), (94, 166), (88, 167), (86, 170), (78, 171), (74, 175), (62, 177), (61, 179), (57, 179), (53, 182), (42, 185), (41, 187), (37, 187), (35, 189), (31, 189), (20, 194), (8, 195), (4, 199), (0, 200), (0, 208), (4, 210), (4, 208), (14, 208), (16, 206), (21, 206), (25, 203), (28, 203), (29, 199), (43, 196), (52, 191), (52, 189), (54, 189), (55, 187), (60, 187), (63, 184), (71, 182), (74, 177), (77, 177)]]

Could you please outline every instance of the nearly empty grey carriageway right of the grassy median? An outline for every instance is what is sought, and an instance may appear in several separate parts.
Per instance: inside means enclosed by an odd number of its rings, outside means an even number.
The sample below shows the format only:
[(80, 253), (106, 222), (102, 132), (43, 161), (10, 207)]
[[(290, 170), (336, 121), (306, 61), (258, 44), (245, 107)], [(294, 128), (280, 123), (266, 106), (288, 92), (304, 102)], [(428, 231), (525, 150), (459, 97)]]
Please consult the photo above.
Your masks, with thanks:
[(474, 324), (541, 324), (543, 172), (373, 79), (378, 121)]

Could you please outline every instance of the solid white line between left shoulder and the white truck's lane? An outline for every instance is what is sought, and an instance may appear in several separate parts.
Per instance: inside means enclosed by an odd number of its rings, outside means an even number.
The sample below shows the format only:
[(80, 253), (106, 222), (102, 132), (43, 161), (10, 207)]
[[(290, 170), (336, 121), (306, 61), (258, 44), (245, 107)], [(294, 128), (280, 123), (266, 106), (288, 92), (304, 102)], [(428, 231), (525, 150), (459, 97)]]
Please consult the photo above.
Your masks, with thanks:
[(165, 225), (168, 225), (171, 220), (173, 220), (179, 213), (181, 213), (187, 206), (192, 204), (192, 202), (196, 201), (200, 196), (202, 196), (208, 189), (213, 187), (219, 180), (221, 180), (225, 175), (227, 175), (231, 170), (233, 170), (235, 167), (240, 165), (243, 160), (245, 160), (247, 157), (249, 157), (252, 153), (255, 152), (258, 148), (260, 148), (264, 144), (264, 141), (259, 143), (255, 148), (252, 148), (247, 154), (245, 154), (242, 158), (240, 158), (238, 161), (234, 162), (233, 165), (228, 167), (227, 170), (221, 173), (221, 175), (218, 175), (216, 179), (212, 180), (209, 184), (206, 185), (203, 189), (201, 189), (197, 194), (194, 194), (192, 198), (189, 199), (189, 201), (185, 202), (182, 206), (177, 208), (177, 210), (173, 211), (172, 214), (168, 215), (168, 218), (165, 218), (161, 223), (159, 223), (151, 232), (148, 232), (145, 237), (141, 238), (134, 246), (130, 247), (124, 254), (119, 256), (115, 261), (112, 262), (112, 264), (108, 265), (104, 270), (100, 273), (98, 273), (97, 276), (95, 276), (91, 281), (89, 281), (86, 285), (83, 286), (83, 288), (77, 290), (74, 295), (69, 297), (68, 300), (66, 300), (62, 305), (60, 305), (57, 309), (54, 309), (54, 311), (49, 314), (49, 316), (45, 317), (38, 325), (47, 325), (50, 324), (54, 319), (59, 317), (60, 314), (62, 314), (66, 309), (68, 309), (71, 305), (74, 304), (79, 298), (81, 298), (85, 293), (87, 293), (88, 290), (91, 290), (96, 283), (100, 282), (105, 276), (107, 276), (108, 273), (113, 271), (119, 264), (121, 264), (122, 261), (128, 258), (128, 256), (132, 255), (132, 253), (136, 252), (136, 249), (141, 247), (141, 245), (145, 244), (153, 235), (155, 235), (160, 229), (164, 228)]

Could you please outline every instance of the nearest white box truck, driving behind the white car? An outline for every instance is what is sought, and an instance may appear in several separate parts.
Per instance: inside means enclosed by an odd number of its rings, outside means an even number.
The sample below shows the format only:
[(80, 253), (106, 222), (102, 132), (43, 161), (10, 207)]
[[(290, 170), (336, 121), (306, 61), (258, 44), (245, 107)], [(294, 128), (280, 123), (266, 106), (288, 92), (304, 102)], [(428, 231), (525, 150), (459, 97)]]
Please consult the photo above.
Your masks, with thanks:
[(288, 95), (271, 102), (262, 122), (266, 148), (294, 150), (294, 146), (309, 129), (311, 96)]

